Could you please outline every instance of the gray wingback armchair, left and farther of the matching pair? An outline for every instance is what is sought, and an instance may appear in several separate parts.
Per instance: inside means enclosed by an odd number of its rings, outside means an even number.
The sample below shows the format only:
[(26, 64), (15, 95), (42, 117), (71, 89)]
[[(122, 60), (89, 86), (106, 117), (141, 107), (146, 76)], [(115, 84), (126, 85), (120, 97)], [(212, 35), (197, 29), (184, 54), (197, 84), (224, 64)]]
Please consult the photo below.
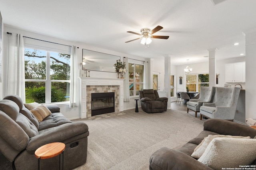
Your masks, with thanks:
[(187, 102), (187, 113), (188, 109), (195, 112), (195, 117), (197, 117), (197, 112), (200, 111), (200, 107), (203, 103), (212, 103), (215, 95), (215, 87), (200, 87), (200, 97), (198, 99), (190, 99)]

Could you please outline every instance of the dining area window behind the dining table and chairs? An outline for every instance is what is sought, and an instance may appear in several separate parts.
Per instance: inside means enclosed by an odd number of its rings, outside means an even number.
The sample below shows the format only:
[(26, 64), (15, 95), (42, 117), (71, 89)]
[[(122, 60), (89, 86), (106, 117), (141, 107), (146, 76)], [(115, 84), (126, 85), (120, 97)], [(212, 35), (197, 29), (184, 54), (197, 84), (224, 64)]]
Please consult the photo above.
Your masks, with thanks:
[(209, 74), (186, 75), (186, 87), (190, 92), (200, 92), (200, 86), (209, 86)]

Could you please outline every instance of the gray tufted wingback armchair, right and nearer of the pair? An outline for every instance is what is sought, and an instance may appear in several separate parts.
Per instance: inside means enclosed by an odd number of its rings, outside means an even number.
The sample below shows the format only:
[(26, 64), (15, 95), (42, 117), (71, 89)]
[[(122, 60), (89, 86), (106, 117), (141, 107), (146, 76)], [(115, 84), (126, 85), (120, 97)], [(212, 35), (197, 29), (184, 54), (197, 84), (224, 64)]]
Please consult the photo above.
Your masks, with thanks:
[(200, 107), (202, 116), (215, 119), (234, 120), (240, 89), (238, 87), (216, 87), (215, 102)]

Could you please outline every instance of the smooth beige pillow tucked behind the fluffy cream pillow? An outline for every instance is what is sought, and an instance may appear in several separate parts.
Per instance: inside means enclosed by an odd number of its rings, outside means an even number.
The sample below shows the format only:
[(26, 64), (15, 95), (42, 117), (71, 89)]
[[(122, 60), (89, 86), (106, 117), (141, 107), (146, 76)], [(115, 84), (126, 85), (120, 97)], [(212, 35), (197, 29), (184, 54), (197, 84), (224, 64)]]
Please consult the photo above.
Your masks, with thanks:
[(205, 137), (204, 140), (194, 149), (194, 152), (192, 153), (193, 158), (200, 158), (202, 154), (204, 153), (205, 149), (208, 147), (209, 143), (212, 141), (212, 139), (216, 137), (228, 137), (228, 138), (250, 138), (243, 137), (243, 136), (231, 136), (231, 135), (208, 135), (208, 137)]

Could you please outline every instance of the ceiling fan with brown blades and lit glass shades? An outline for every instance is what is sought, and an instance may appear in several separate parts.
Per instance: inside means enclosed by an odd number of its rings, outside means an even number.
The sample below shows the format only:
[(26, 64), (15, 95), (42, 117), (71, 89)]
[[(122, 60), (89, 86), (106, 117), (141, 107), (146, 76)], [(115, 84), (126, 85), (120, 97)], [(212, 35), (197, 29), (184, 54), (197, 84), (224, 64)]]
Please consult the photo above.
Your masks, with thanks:
[(169, 36), (153, 35), (154, 33), (156, 33), (157, 31), (159, 31), (161, 29), (163, 29), (163, 27), (158, 25), (157, 27), (155, 27), (152, 30), (149, 29), (149, 28), (142, 28), (140, 30), (141, 33), (135, 33), (133, 31), (127, 31), (128, 33), (133, 33), (133, 34), (136, 34), (136, 35), (141, 35), (141, 37), (136, 38), (136, 39), (132, 39), (130, 41), (126, 41), (126, 43), (129, 43), (131, 41), (135, 41), (137, 39), (142, 39), (140, 43), (142, 43), (142, 44), (144, 44), (146, 46), (146, 45), (149, 45), (152, 42), (151, 38), (168, 39)]

